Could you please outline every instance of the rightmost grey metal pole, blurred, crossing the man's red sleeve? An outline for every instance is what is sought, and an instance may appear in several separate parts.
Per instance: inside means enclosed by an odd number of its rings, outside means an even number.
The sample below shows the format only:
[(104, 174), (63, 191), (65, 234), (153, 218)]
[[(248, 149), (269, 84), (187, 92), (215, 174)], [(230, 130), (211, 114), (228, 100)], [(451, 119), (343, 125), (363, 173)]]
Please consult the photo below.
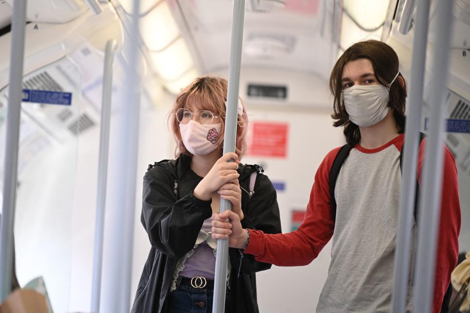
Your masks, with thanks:
[(416, 294), (414, 313), (432, 310), (434, 272), (436, 264), (437, 235), (441, 213), (441, 190), (443, 178), (444, 130), (443, 111), (447, 94), (449, 67), (451, 9), (453, 1), (438, 2), (436, 18), (436, 44), (434, 49), (433, 81), (431, 83), (430, 127), (426, 143), (423, 171), (423, 193), (420, 203), (418, 225), (418, 256), (416, 260)]

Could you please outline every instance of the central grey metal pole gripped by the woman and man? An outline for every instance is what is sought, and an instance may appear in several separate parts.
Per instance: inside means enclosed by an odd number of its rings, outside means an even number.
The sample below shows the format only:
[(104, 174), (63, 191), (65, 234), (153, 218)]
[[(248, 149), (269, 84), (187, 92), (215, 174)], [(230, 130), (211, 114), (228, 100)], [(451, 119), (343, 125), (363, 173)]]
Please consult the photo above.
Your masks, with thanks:
[[(236, 108), (240, 84), (241, 47), (243, 43), (243, 22), (245, 19), (245, 0), (234, 0), (232, 18), (232, 40), (230, 47), (229, 86), (227, 91), (227, 113), (225, 119), (225, 136), (223, 153), (235, 152), (236, 141)], [(220, 199), (219, 212), (232, 209), (230, 201)], [(225, 288), (227, 287), (227, 263), (229, 240), (217, 240), (215, 259), (214, 300), (212, 313), (223, 313), (225, 308)]]

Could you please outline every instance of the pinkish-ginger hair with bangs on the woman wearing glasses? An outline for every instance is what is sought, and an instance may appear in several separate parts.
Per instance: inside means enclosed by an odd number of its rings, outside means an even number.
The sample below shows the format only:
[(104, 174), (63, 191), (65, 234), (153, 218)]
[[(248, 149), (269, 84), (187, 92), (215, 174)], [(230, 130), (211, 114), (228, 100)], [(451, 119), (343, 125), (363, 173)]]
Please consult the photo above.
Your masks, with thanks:
[[(202, 76), (198, 77), (189, 84), (188, 87), (181, 90), (176, 97), (173, 109), (169, 113), (168, 120), (170, 122), (170, 129), (177, 142), (175, 156), (185, 154), (191, 156), (191, 153), (186, 149), (180, 133), (180, 124), (176, 120), (175, 113), (180, 108), (187, 108), (188, 100), (197, 104), (200, 110), (209, 110), (215, 116), (219, 116), (222, 123), (219, 137), (216, 141), (217, 146), (220, 145), (224, 139), (225, 132), (225, 102), (227, 101), (228, 82), (226, 79), (217, 76)], [(240, 100), (241, 102), (241, 100)], [(243, 106), (243, 104), (242, 104)], [(243, 114), (237, 115), (237, 128), (236, 128), (236, 141), (235, 153), (238, 159), (246, 152), (246, 129), (248, 124), (248, 116), (243, 106)]]

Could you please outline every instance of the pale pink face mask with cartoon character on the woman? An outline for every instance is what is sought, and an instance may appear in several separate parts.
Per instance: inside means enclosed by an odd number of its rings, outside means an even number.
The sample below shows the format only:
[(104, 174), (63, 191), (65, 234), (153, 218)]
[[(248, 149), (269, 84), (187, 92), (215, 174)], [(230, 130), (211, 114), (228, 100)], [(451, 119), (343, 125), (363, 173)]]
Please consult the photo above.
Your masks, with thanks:
[(217, 148), (222, 123), (201, 125), (190, 120), (188, 124), (180, 124), (180, 133), (183, 143), (190, 153), (196, 156), (205, 156)]

